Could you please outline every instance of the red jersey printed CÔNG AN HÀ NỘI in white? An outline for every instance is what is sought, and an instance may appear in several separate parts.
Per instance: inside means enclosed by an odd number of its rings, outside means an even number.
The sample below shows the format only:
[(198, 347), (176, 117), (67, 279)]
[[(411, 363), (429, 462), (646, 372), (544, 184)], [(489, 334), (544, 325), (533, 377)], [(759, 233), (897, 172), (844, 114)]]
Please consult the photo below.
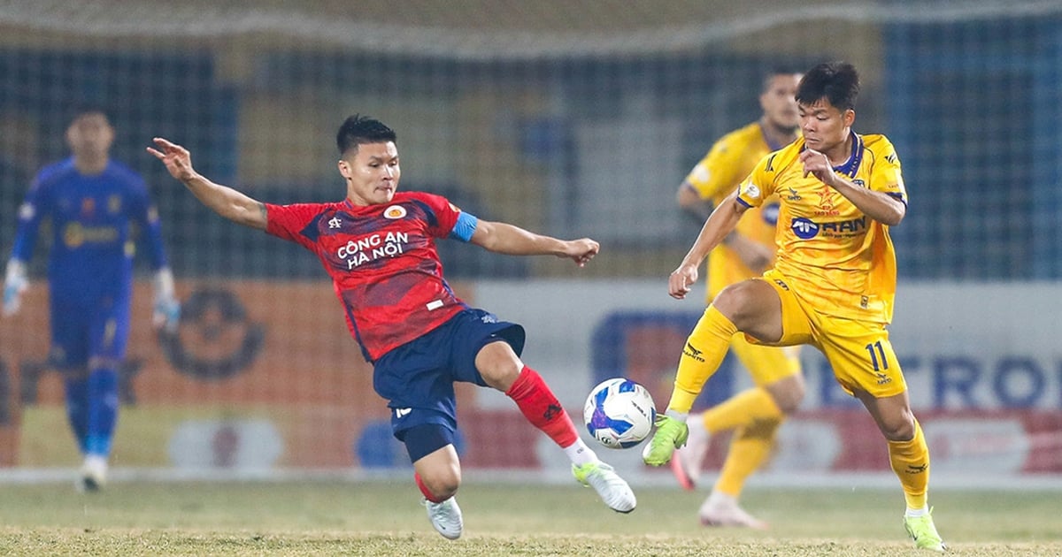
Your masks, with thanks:
[(370, 362), (467, 309), (443, 278), (436, 238), (468, 241), (476, 217), (445, 197), (397, 192), (391, 203), (266, 205), (266, 231), (316, 254)]

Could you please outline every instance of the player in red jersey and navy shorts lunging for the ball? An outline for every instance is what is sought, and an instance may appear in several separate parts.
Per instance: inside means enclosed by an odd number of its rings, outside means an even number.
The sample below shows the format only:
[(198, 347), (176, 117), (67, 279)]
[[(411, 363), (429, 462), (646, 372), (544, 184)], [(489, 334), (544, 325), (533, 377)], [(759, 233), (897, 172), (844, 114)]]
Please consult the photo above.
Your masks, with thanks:
[(576, 478), (619, 512), (634, 493), (579, 438), (546, 382), (519, 359), (524, 329), (468, 307), (443, 278), (435, 241), (472, 242), (515, 256), (553, 255), (583, 266), (598, 243), (558, 240), (482, 221), (446, 198), (397, 192), (395, 133), (361, 116), (339, 129), (339, 172), (346, 198), (278, 206), (255, 201), (198, 174), (181, 145), (156, 138), (148, 151), (204, 205), (238, 224), (266, 230), (316, 254), (332, 278), (350, 334), (373, 363), (373, 385), (388, 400), (394, 436), (406, 445), (432, 526), (449, 539), (463, 522), (455, 493), (461, 464), (453, 448), (453, 382), (496, 388), (556, 442)]

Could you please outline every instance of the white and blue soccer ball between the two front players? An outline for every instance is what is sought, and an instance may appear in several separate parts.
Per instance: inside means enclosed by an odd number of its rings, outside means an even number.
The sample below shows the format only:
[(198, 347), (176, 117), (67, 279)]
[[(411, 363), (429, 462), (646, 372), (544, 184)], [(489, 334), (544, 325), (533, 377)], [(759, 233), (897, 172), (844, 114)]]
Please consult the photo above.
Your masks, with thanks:
[(623, 378), (606, 379), (590, 390), (583, 406), (586, 430), (610, 449), (630, 449), (652, 433), (656, 419), (646, 387)]

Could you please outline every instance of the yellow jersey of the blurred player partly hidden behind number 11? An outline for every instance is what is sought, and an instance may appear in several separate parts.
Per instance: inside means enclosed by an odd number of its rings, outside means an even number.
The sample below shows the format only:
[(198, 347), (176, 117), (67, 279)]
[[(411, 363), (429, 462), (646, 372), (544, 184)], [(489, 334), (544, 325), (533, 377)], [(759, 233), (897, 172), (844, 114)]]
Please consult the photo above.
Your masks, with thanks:
[[(702, 199), (708, 199), (718, 206), (749, 175), (756, 162), (771, 151), (759, 122), (753, 122), (716, 141), (689, 172), (685, 181), (693, 187)], [(750, 240), (773, 246), (777, 216), (777, 198), (767, 199), (748, 211), (738, 223), (736, 231)], [(708, 301), (730, 284), (755, 276), (758, 274), (749, 268), (733, 249), (725, 245), (716, 247), (708, 254)]]

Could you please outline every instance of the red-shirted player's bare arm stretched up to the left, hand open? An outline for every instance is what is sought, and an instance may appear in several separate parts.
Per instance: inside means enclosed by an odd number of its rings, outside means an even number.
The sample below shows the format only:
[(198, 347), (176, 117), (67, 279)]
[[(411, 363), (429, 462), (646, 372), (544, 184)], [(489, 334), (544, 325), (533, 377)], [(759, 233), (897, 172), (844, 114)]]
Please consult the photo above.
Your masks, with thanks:
[(160, 137), (154, 139), (155, 147), (148, 147), (148, 153), (166, 164), (170, 175), (181, 180), (191, 190), (203, 205), (213, 212), (243, 226), (264, 230), (266, 205), (253, 199), (227, 186), (215, 184), (195, 172), (192, 168), (191, 153), (187, 149)]

